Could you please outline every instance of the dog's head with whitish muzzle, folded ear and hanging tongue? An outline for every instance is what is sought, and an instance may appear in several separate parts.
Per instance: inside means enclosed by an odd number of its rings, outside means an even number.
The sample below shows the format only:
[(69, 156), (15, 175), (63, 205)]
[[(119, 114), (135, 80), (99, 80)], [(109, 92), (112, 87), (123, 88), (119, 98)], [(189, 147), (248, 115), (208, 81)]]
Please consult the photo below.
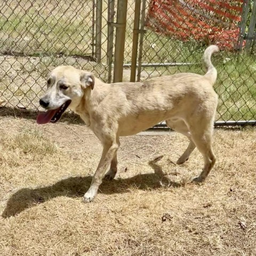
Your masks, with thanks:
[(39, 113), (37, 123), (57, 122), (68, 107), (75, 109), (85, 90), (93, 90), (93, 86), (94, 76), (88, 71), (71, 66), (53, 69), (47, 78), (47, 90), (39, 100), (47, 111)]

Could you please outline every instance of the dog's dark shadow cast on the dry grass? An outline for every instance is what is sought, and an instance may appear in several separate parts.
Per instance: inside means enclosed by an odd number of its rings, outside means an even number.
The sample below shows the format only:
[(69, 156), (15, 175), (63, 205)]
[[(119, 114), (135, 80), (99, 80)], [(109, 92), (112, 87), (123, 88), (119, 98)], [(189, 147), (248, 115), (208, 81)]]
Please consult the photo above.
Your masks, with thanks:
[[(163, 186), (182, 186), (181, 183), (170, 181), (166, 174), (163, 173), (162, 167), (157, 164), (162, 157), (157, 157), (148, 163), (154, 169), (154, 173), (138, 174), (127, 179), (105, 180), (100, 186), (99, 193), (125, 193), (131, 187), (155, 189)], [(36, 189), (22, 188), (9, 198), (2, 217), (11, 217), (28, 207), (36, 206), (58, 196), (82, 197), (89, 188), (91, 180), (91, 176), (70, 177), (48, 187)]]

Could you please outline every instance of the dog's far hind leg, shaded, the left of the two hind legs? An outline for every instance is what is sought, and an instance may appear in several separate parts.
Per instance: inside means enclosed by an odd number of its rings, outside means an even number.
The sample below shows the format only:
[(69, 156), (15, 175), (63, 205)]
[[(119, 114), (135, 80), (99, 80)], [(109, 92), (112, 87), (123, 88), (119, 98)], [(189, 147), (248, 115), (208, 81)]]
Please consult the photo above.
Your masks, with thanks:
[(185, 152), (181, 155), (181, 157), (177, 161), (177, 164), (183, 164), (188, 160), (190, 154), (196, 148), (195, 143), (191, 140), (191, 134), (188, 130), (188, 126), (181, 119), (179, 119), (178, 121), (166, 120), (166, 124), (175, 132), (179, 132), (179, 133), (187, 136), (190, 141), (187, 149), (185, 150)]

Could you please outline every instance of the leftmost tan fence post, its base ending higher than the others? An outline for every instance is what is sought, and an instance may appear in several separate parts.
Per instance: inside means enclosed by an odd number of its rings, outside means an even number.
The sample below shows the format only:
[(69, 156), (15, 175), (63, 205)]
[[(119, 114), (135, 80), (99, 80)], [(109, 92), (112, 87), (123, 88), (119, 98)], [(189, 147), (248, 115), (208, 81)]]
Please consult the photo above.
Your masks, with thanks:
[(102, 0), (96, 2), (96, 37), (95, 57), (97, 62), (101, 61), (101, 28), (102, 28)]

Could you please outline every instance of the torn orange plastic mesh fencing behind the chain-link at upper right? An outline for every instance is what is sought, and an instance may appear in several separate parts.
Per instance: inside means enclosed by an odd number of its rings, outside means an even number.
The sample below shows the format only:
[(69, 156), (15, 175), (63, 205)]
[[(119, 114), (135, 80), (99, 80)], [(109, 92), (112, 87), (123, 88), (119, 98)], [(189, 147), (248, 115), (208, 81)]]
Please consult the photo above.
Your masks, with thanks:
[(231, 50), (239, 35), (242, 4), (243, 0), (152, 0), (146, 26), (183, 42), (195, 39)]

